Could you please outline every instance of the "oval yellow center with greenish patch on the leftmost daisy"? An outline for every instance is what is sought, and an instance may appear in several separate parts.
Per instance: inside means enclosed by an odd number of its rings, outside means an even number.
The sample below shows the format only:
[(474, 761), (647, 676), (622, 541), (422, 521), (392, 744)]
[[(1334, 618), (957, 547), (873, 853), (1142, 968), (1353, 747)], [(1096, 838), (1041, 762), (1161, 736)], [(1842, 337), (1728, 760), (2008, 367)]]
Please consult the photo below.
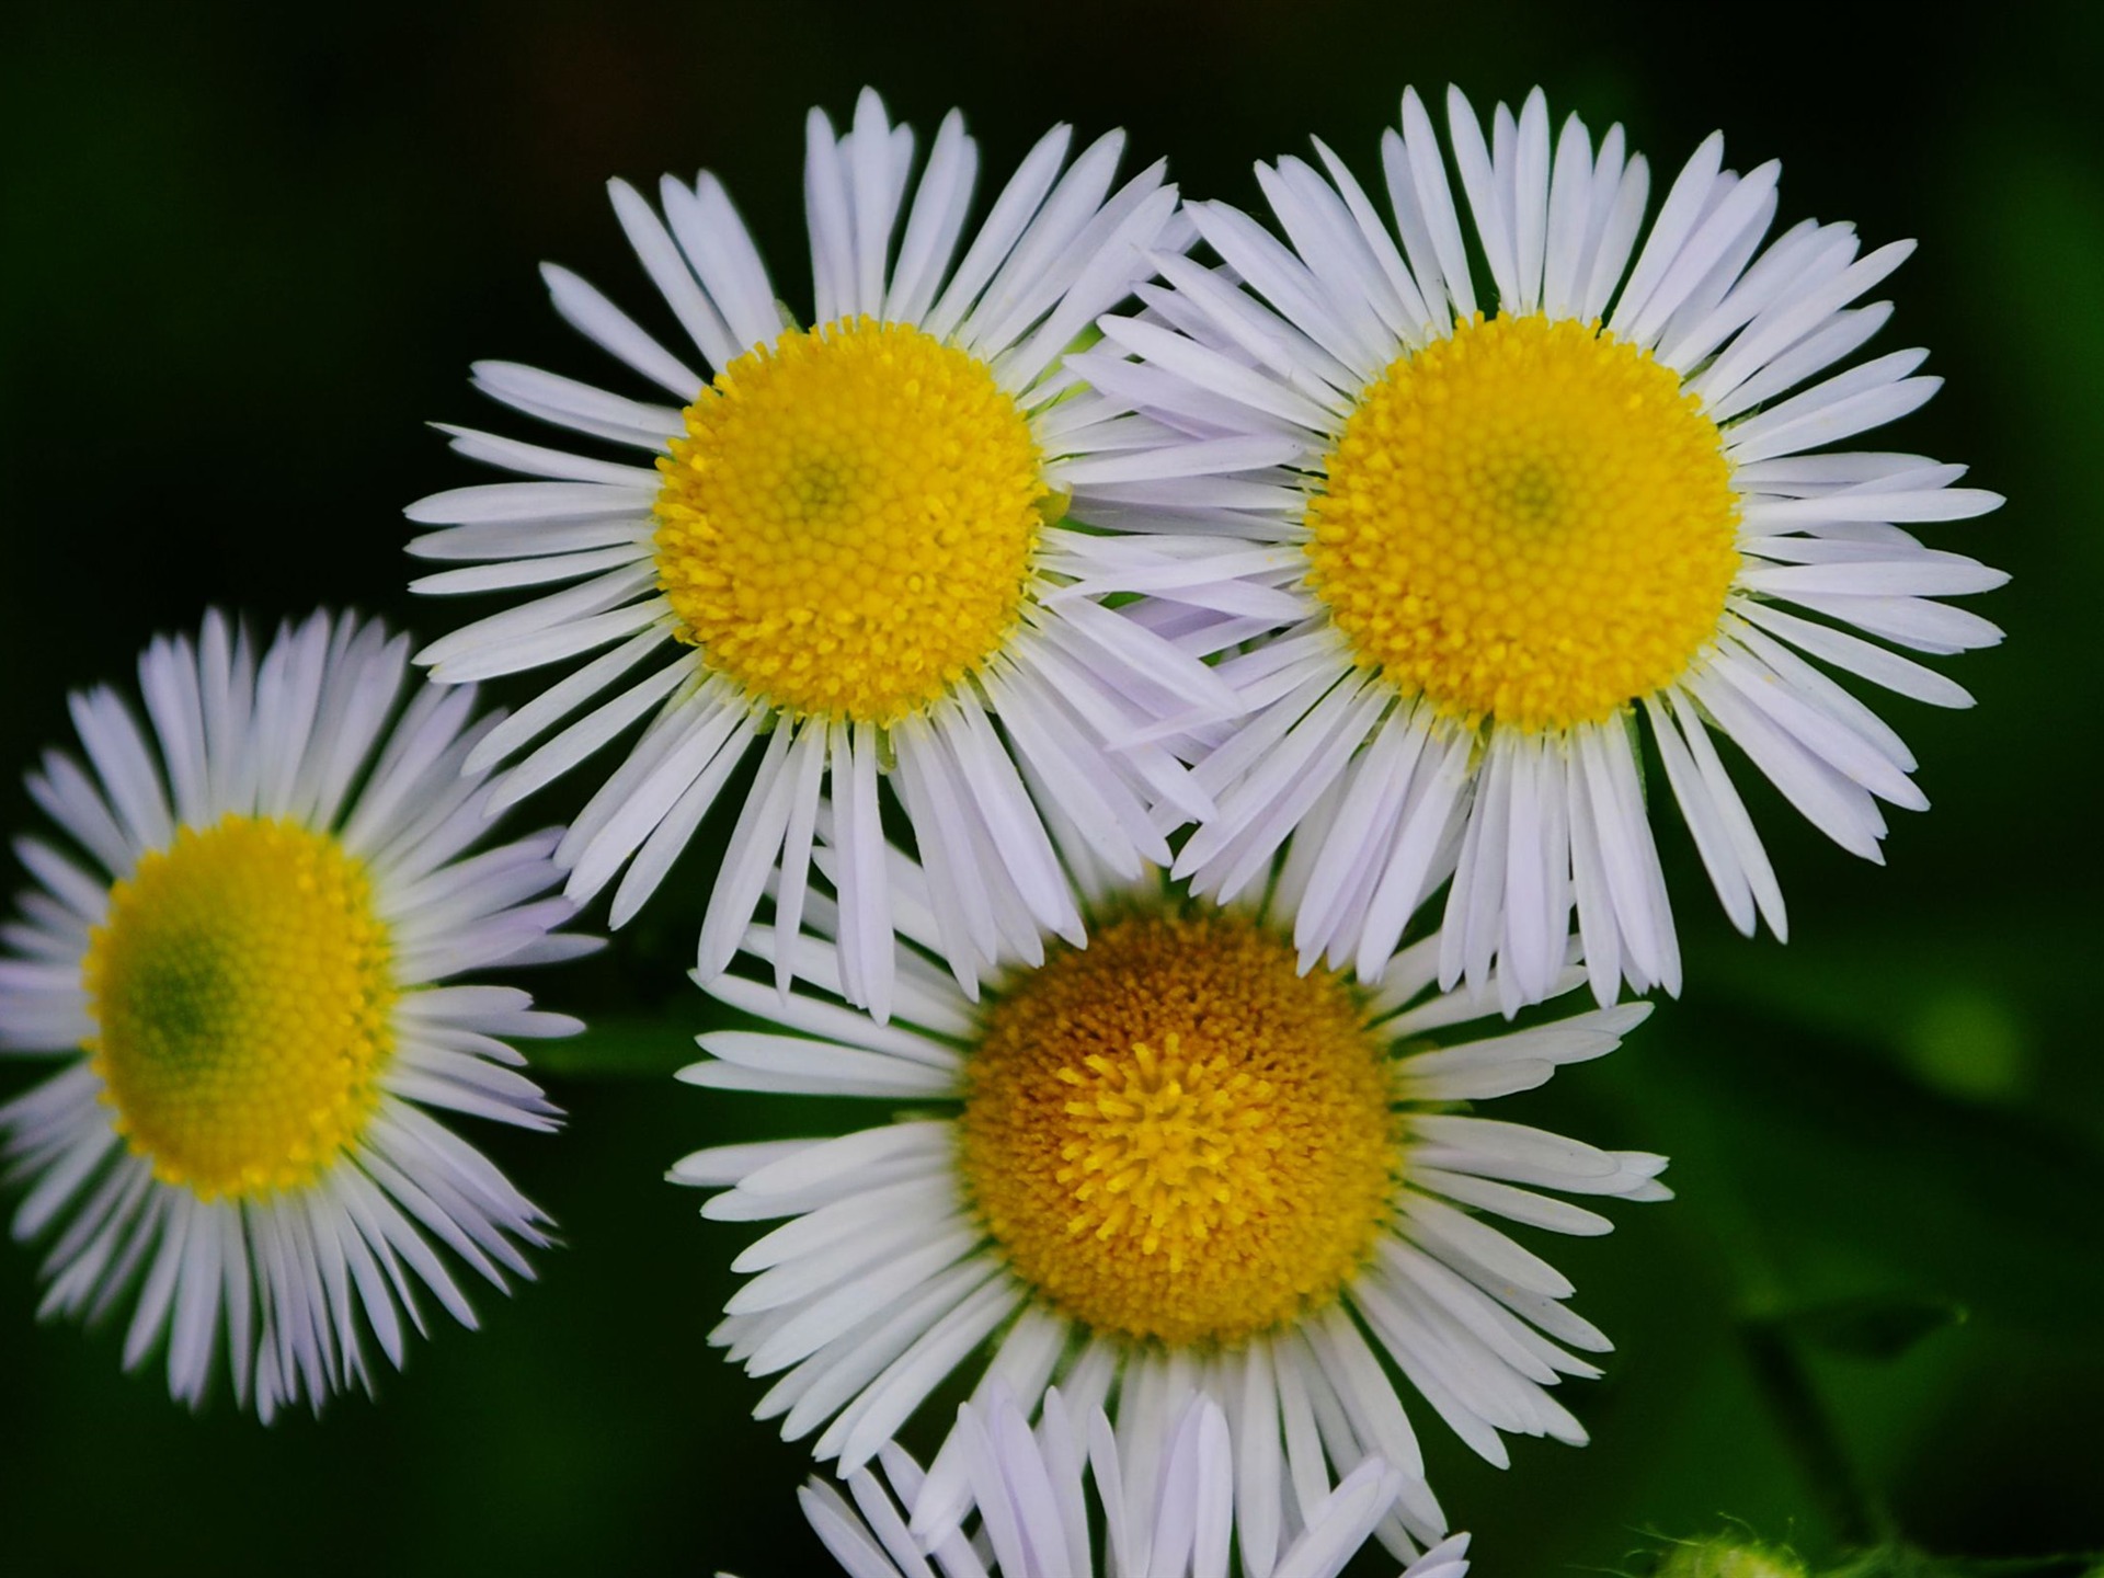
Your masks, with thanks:
[(109, 890), (82, 966), (114, 1126), (204, 1199), (311, 1182), (393, 1052), (387, 930), (337, 839), (229, 814)]

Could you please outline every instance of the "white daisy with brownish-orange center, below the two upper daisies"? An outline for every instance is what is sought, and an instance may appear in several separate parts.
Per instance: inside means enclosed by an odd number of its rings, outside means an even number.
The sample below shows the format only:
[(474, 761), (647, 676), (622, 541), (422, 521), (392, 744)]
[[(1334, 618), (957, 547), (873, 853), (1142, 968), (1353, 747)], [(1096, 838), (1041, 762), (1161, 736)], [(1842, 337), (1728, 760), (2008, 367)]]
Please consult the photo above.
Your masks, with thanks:
[[(980, 1395), (1058, 1382), (1086, 1418), (1115, 1393), (1121, 1452), (1168, 1452), (1182, 1399), (1233, 1422), (1237, 1523), (1262, 1572), (1328, 1471), (1399, 1471), (1382, 1538), (1403, 1559), (1445, 1519), (1393, 1365), (1471, 1448), (1500, 1431), (1584, 1441), (1549, 1387), (1605, 1338), (1572, 1283), (1490, 1218), (1563, 1233), (1610, 1222), (1540, 1189), (1662, 1199), (1664, 1157), (1599, 1151), (1456, 1111), (1610, 1052), (1647, 1008), (1530, 1029), (1466, 1027), (1490, 993), (1431, 991), (1439, 940), (1378, 989), (1302, 972), (1288, 861), (1265, 907), (1191, 901), (1159, 873), (1086, 873), (1088, 947), (989, 972), (978, 1002), (924, 951), (951, 903), (894, 854), (896, 1020), (837, 1002), (831, 905), (812, 903), (787, 999), (736, 974), (720, 1002), (774, 1029), (701, 1037), (690, 1084), (871, 1096), (911, 1111), (833, 1138), (701, 1151), (675, 1182), (703, 1214), (781, 1220), (711, 1342), (753, 1376), (783, 1435), (863, 1466), (983, 1347)], [(781, 934), (753, 928), (764, 959)], [(1567, 970), (1561, 987), (1582, 972)], [(821, 991), (823, 989), (823, 991)], [(917, 1525), (964, 1506), (968, 1452), (930, 1469)], [(1290, 1504), (1288, 1504), (1290, 1498)]]

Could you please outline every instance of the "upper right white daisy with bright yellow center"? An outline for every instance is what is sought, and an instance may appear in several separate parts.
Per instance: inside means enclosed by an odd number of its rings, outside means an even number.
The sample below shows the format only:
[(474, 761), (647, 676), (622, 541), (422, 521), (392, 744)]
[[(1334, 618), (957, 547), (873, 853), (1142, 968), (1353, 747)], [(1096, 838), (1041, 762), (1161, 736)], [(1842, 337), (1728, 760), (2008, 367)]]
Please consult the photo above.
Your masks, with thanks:
[(1294, 448), (1176, 484), (1193, 551), (1210, 543), (1222, 570), (1185, 564), (1203, 593), (1185, 614), (1222, 606), (1225, 581), (1298, 606), (1220, 665), (1250, 713), (1199, 739), (1218, 810), (1176, 871), (1231, 896), (1294, 827), (1317, 827), (1296, 932), (1309, 962), (1378, 980), (1452, 877), (1443, 985), (1481, 985), (1496, 959), (1509, 1008), (1540, 997), (1576, 909), (1601, 1004), (1622, 978), (1677, 991), (1639, 734), (1732, 922), (1784, 936), (1713, 734), (1877, 861), (1879, 802), (1927, 802), (1906, 745), (1828, 669), (1969, 705), (1891, 648), (1997, 642), (1936, 600), (2005, 576), (1904, 526), (2001, 501), (1950, 486), (1957, 465), (1828, 448), (1940, 383), (1917, 377), (1919, 349), (1835, 370), (1885, 324), (1889, 303), (1858, 303), (1910, 242), (1858, 257), (1854, 227), (1814, 221), (1767, 240), (1778, 166), (1725, 170), (1721, 137), (1645, 231), (1645, 164), (1620, 126), (1595, 147), (1572, 116), (1551, 141), (1536, 90), (1517, 118), (1498, 105), (1485, 141), (1458, 90), (1448, 103), (1473, 244), (1448, 151), (1405, 93), (1380, 149), (1393, 227), (1321, 143), (1321, 170), (1260, 164), (1286, 240), (1191, 204), (1222, 267), (1157, 259), (1170, 288), (1142, 290), (1149, 309), (1105, 320), (1111, 345), (1075, 358), (1178, 429), (1187, 457), (1256, 436)]

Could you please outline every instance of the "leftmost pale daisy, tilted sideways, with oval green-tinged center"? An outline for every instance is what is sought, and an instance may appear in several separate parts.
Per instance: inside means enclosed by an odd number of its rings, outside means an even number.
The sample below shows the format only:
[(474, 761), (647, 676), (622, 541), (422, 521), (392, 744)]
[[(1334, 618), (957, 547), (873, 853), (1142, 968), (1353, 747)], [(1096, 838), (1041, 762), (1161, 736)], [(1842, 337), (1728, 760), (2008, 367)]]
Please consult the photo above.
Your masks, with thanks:
[(494, 720), (471, 690), (398, 709), (406, 671), (377, 623), (316, 614), (259, 663), (213, 612), (141, 659), (147, 726), (80, 692), (86, 762), (29, 774), (65, 837), (15, 844), (0, 1048), (65, 1067), (0, 1107), (15, 1235), (63, 1225), (42, 1315), (130, 1302), (126, 1368), (166, 1338), (191, 1405), (221, 1344), (265, 1420), (370, 1389), (368, 1342), (400, 1368), (423, 1330), (417, 1283), (476, 1323), (438, 1246), (503, 1288), (547, 1241), (431, 1111), (555, 1126), (507, 1041), (581, 1025), (457, 978), (593, 945), (539, 896), (553, 833), (469, 854), (490, 789), (461, 762)]

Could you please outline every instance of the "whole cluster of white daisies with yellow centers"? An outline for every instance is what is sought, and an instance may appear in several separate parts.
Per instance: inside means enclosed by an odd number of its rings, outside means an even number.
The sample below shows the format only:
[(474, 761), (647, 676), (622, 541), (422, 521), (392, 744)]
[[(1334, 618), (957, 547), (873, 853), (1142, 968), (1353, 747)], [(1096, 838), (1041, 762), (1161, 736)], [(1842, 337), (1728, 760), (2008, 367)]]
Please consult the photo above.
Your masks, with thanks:
[(709, 173), (614, 181), (661, 328), (549, 265), (619, 387), (476, 364), (539, 429), (448, 427), (509, 480), (408, 509), (414, 589), (501, 606), (414, 656), (215, 612), (143, 717), (74, 699), (0, 934), (46, 1313), (265, 1420), (473, 1323), (547, 1220), (438, 1113), (553, 1128), (513, 1041), (581, 1029), (476, 978), (720, 844), (682, 1077), (867, 1121), (671, 1178), (764, 1225), (711, 1340), (850, 1574), (1466, 1570), (1418, 1420), (1582, 1443), (1610, 1342), (1523, 1239), (1668, 1195), (1483, 1107), (1679, 991), (1654, 812), (1780, 938), (1748, 772), (1864, 858), (1925, 806), (1860, 690), (1969, 703), (1917, 654), (2003, 576), (1915, 528), (1999, 499), (1849, 448), (1938, 385), (1862, 356), (1908, 244), (1778, 227), (1721, 137), (1658, 202), (1540, 93), (1405, 93), (1267, 217), (1124, 160), (814, 109), (808, 297)]

